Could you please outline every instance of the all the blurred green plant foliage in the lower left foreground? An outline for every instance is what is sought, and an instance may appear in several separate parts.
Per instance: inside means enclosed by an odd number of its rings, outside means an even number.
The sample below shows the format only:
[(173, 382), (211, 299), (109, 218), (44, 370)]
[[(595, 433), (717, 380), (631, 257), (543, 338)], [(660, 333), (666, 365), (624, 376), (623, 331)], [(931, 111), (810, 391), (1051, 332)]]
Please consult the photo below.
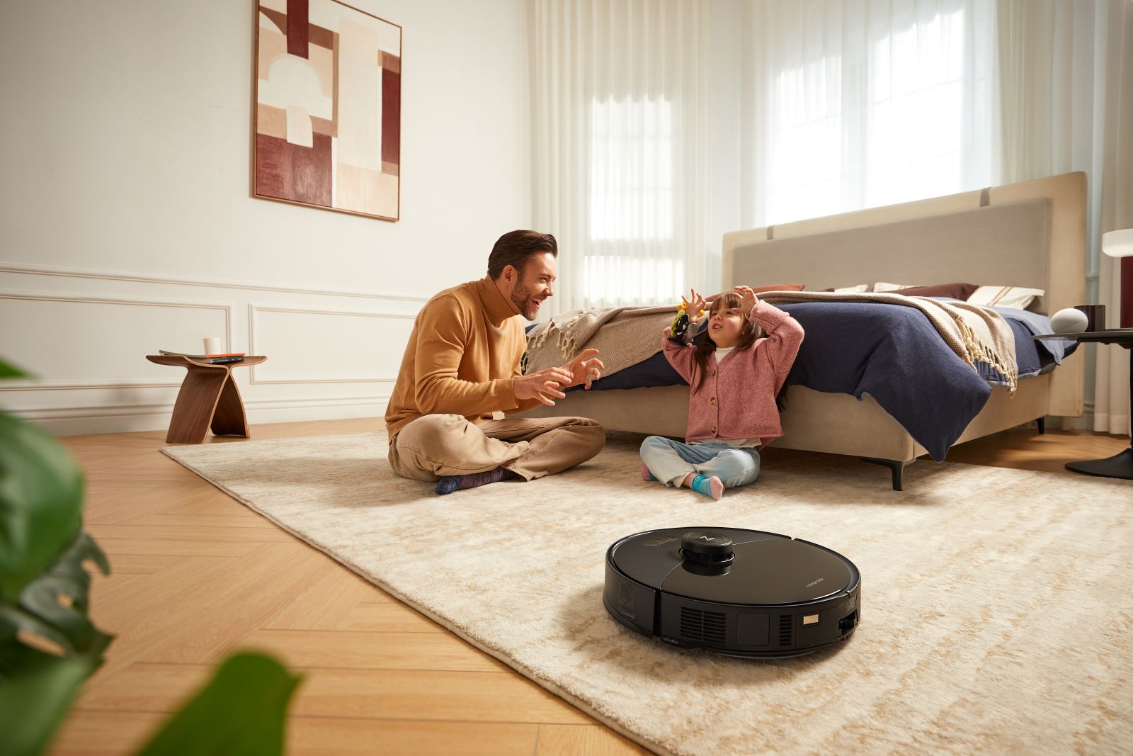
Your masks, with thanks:
[[(0, 379), (27, 377), (0, 360)], [(83, 529), (83, 475), (58, 441), (0, 411), (0, 732), (12, 756), (43, 753), (112, 636), (88, 614), (86, 563), (110, 563)], [(300, 678), (236, 654), (143, 754), (282, 754)]]

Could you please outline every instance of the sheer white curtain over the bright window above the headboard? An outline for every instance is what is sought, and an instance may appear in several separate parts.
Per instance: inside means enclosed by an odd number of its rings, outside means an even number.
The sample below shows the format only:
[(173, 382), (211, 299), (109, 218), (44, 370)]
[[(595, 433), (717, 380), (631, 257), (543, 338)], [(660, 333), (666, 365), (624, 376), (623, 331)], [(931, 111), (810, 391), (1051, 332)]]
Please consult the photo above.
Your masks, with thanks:
[(991, 180), (993, 0), (751, 0), (744, 227)]

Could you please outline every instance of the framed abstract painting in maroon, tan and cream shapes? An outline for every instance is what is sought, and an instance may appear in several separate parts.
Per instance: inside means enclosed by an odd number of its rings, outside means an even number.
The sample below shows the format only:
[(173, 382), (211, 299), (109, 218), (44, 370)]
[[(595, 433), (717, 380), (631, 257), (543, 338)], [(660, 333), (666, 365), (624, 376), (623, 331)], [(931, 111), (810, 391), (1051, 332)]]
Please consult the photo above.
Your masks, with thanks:
[(253, 195), (400, 218), (401, 27), (337, 0), (257, 0)]

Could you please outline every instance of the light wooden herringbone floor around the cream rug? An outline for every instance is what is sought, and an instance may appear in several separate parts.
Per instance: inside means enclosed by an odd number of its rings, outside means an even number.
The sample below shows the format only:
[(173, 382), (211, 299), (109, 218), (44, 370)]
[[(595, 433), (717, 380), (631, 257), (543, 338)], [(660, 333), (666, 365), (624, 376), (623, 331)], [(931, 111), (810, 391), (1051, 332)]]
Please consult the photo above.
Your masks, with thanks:
[[(288, 423), (255, 426), (253, 436), (381, 426)], [(235, 648), (269, 649), (305, 676), (288, 722), (291, 754), (644, 753), (159, 453), (164, 435), (65, 440), (86, 472), (86, 527), (113, 568), (94, 580), (92, 613), (118, 637), (52, 753), (134, 750)], [(1127, 444), (1015, 430), (948, 459), (1064, 473), (1067, 459)], [(770, 449), (765, 464), (791, 453)], [(886, 476), (878, 470), (879, 485)]]

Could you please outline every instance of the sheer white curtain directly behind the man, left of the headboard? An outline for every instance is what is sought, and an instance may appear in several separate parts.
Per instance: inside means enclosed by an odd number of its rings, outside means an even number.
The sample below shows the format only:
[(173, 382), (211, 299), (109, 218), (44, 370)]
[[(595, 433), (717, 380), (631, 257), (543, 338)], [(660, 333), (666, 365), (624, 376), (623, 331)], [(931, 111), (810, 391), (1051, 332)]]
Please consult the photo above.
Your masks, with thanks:
[(709, 287), (707, 3), (534, 0), (534, 223), (559, 238), (548, 314)]

